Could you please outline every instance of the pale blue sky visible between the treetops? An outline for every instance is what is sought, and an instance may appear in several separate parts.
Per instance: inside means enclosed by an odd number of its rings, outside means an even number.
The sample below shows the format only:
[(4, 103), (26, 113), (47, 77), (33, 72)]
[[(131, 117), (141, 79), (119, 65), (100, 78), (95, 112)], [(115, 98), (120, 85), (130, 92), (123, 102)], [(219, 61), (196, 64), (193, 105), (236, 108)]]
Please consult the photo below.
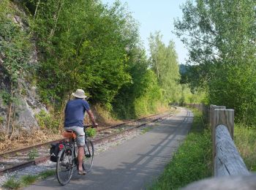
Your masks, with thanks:
[[(115, 0), (102, 0), (104, 4), (112, 5)], [(186, 0), (119, 0), (122, 4), (127, 3), (132, 17), (140, 23), (140, 38), (148, 52), (148, 37), (150, 33), (160, 31), (162, 42), (168, 45), (173, 40), (176, 45), (179, 64), (185, 64), (188, 51), (183, 43), (172, 33), (174, 30), (174, 18), (182, 18), (180, 5)]]

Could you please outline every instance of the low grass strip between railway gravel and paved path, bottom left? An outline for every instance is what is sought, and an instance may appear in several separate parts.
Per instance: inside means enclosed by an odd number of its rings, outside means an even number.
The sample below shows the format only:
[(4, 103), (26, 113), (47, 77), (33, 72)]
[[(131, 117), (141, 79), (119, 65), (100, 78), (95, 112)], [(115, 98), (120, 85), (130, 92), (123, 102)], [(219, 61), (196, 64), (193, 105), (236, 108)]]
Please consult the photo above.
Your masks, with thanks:
[(3, 187), (7, 189), (20, 189), (29, 186), (37, 180), (48, 178), (49, 176), (54, 175), (55, 172), (55, 170), (46, 170), (45, 172), (39, 173), (39, 175), (23, 175), (19, 180), (10, 178), (4, 183)]

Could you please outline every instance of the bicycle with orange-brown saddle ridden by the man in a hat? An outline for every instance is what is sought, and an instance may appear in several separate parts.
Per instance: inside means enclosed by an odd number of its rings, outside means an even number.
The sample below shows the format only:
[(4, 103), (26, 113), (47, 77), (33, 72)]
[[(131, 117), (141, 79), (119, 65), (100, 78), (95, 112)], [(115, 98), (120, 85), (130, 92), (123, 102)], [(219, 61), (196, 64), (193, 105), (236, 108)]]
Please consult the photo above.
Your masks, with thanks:
[[(83, 126), (85, 133), (86, 128), (89, 126)], [(61, 151), (59, 151), (56, 164), (57, 179), (62, 186), (69, 183), (74, 170), (78, 170), (78, 146), (75, 142), (75, 132), (72, 130), (66, 131), (63, 136), (69, 138), (69, 141), (66, 140), (59, 144), (59, 149)], [(87, 135), (85, 139), (86, 143), (84, 145), (85, 156), (83, 156), (83, 170), (90, 172), (94, 160), (94, 143), (87, 139)]]

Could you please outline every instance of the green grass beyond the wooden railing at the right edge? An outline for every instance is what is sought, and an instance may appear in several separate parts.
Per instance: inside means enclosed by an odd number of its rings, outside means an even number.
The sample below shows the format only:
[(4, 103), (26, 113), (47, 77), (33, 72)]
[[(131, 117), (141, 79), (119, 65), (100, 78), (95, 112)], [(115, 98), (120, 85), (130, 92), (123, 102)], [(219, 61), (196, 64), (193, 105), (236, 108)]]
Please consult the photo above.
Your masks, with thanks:
[(235, 124), (234, 142), (248, 170), (256, 171), (256, 127)]

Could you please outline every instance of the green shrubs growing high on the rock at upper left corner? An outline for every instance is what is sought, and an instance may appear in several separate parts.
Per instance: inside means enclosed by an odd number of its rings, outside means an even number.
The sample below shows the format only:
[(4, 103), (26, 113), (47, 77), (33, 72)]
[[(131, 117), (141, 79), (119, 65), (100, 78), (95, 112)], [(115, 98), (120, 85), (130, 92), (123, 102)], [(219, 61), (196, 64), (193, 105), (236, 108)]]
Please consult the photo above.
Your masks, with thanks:
[(17, 14), (10, 1), (3, 0), (0, 4), (0, 58), (4, 67), (5, 77), (17, 83), (18, 77), (29, 68), (31, 43), (29, 37), (12, 18)]

